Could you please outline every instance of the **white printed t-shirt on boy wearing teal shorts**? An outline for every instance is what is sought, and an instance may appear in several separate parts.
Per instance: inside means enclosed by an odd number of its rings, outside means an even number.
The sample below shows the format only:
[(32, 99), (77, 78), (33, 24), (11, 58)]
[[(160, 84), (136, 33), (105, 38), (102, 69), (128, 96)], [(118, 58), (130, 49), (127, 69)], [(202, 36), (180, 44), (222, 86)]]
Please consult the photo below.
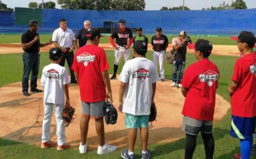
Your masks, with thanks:
[(126, 61), (119, 80), (128, 83), (124, 93), (123, 112), (132, 115), (149, 115), (152, 84), (159, 80), (154, 63), (146, 58)]

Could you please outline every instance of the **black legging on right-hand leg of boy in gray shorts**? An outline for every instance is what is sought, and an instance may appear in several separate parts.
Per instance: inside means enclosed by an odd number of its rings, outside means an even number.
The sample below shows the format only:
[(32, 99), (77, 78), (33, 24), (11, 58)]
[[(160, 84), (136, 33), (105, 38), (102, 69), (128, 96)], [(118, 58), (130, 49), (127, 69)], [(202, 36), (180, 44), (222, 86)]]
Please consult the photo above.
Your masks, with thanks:
[(203, 138), (203, 144), (204, 144), (204, 150), (205, 150), (205, 155), (207, 159), (213, 159), (213, 153), (214, 153), (214, 139), (211, 134), (207, 134), (207, 133), (202, 133), (202, 138)]

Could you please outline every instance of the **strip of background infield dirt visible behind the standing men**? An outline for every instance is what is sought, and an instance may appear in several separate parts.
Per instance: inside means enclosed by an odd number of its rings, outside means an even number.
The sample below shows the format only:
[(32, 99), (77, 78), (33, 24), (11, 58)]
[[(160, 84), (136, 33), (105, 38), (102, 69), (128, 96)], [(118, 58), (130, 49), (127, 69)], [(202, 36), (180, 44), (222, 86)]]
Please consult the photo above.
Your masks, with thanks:
[[(105, 50), (113, 50), (113, 47), (110, 43), (101, 43), (99, 45)], [(52, 46), (41, 47), (40, 51), (49, 51)], [(172, 49), (172, 45), (170, 44), (168, 47), (168, 51)], [(152, 46), (149, 44), (148, 50), (152, 50)], [(193, 53), (194, 50), (188, 49), (188, 53)], [(0, 44), (0, 54), (13, 54), (13, 53), (22, 53), (22, 46), (20, 43), (1, 43)], [(239, 56), (239, 51), (237, 46), (226, 46), (226, 45), (213, 45), (212, 54), (215, 55), (227, 55), (227, 56)]]

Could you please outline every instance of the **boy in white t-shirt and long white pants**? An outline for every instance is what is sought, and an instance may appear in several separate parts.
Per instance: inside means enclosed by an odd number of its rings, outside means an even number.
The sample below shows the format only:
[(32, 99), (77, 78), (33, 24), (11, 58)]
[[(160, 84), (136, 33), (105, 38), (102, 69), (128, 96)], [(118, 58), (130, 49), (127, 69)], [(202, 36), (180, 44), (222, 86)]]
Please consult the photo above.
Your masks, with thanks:
[[(50, 141), (51, 120), (54, 108), (57, 124), (58, 151), (69, 147), (66, 143), (65, 127), (62, 124), (62, 112), (64, 104), (70, 105), (67, 86), (70, 83), (70, 79), (66, 68), (58, 64), (62, 59), (62, 55), (62, 50), (59, 48), (52, 48), (49, 51), (49, 59), (52, 60), (52, 63), (43, 68), (41, 77), (41, 85), (44, 88), (44, 120), (41, 148), (55, 145), (55, 142)], [(66, 102), (64, 93), (66, 95)]]

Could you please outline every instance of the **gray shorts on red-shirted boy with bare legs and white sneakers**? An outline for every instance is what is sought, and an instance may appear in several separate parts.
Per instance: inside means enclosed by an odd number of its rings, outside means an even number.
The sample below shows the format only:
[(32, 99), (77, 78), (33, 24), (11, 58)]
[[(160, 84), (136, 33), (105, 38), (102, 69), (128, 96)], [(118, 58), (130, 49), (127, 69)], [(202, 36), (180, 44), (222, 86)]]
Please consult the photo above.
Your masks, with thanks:
[(84, 116), (91, 116), (92, 118), (101, 118), (104, 116), (103, 106), (105, 100), (95, 103), (86, 103), (82, 101), (82, 114)]

